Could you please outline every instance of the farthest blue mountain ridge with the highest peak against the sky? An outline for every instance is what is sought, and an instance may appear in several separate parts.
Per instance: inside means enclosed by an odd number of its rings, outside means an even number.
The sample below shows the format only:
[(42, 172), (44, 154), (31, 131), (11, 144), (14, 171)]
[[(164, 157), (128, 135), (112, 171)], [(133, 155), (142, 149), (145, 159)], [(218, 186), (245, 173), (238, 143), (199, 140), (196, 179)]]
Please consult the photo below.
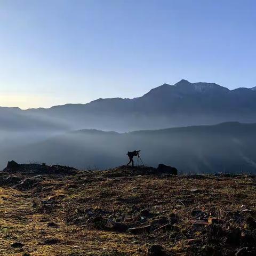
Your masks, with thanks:
[(132, 131), (227, 121), (256, 122), (256, 87), (215, 83), (163, 84), (134, 99), (98, 99), (49, 109), (0, 108), (0, 129)]

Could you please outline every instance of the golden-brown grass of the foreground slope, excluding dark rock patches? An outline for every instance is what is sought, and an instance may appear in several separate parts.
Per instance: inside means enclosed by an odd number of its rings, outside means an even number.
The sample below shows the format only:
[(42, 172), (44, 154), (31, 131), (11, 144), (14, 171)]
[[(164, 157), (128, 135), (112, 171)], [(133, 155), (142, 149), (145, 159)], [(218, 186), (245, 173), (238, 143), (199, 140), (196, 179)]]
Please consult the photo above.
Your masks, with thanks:
[[(195, 227), (189, 221), (196, 219), (191, 212), (200, 210), (223, 220), (223, 229), (239, 227), (247, 230), (243, 221), (248, 213), (241, 215), (242, 222), (234, 216), (236, 212), (242, 214), (243, 209), (252, 210), (250, 214), (255, 213), (253, 178), (127, 175), (132, 175), (130, 170), (115, 169), (58, 178), (43, 176), (39, 185), (25, 191), (0, 187), (0, 254), (146, 255), (150, 245), (161, 244), (175, 255), (207, 255), (207, 250), (211, 255), (215, 252), (229, 255), (241, 246), (221, 240), (213, 244), (209, 240), (212, 225)], [(198, 190), (190, 191), (195, 188)], [(100, 230), (86, 221), (74, 221), (86, 217), (86, 211), (90, 210), (127, 225), (143, 226), (139, 223), (140, 212), (145, 209), (154, 214), (146, 219), (145, 225), (154, 219), (171, 216), (175, 216), (178, 223), (168, 230), (132, 235)], [(52, 221), (59, 227), (49, 227), (48, 223)], [(49, 244), (47, 239), (52, 238), (57, 240)], [(192, 238), (195, 240), (190, 241)], [(10, 247), (17, 241), (25, 244), (23, 249)]]

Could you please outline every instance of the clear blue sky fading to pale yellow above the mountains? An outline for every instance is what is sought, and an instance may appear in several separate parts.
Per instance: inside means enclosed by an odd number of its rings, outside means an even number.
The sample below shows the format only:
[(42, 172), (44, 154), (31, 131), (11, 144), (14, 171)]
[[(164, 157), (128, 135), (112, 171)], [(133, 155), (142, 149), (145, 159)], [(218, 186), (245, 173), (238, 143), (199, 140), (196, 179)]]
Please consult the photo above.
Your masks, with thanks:
[(256, 86), (254, 0), (0, 0), (0, 106)]

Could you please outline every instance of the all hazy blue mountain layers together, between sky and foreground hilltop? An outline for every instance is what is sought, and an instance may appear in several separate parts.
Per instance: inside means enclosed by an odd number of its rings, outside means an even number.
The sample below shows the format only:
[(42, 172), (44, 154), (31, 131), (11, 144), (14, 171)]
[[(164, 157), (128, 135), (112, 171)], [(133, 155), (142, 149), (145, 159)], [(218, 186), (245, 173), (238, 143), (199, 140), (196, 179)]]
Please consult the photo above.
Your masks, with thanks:
[(141, 149), (147, 165), (181, 172), (256, 172), (256, 87), (182, 79), (134, 99), (0, 107), (0, 121), (0, 167), (14, 159), (105, 169)]

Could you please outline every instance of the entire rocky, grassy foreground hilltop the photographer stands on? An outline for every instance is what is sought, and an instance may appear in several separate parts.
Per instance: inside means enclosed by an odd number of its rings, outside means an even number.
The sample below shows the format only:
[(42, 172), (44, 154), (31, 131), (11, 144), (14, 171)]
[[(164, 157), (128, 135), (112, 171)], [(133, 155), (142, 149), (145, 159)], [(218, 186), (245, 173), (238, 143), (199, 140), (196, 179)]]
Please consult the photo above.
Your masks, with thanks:
[(0, 173), (2, 255), (255, 255), (252, 175), (22, 170)]

